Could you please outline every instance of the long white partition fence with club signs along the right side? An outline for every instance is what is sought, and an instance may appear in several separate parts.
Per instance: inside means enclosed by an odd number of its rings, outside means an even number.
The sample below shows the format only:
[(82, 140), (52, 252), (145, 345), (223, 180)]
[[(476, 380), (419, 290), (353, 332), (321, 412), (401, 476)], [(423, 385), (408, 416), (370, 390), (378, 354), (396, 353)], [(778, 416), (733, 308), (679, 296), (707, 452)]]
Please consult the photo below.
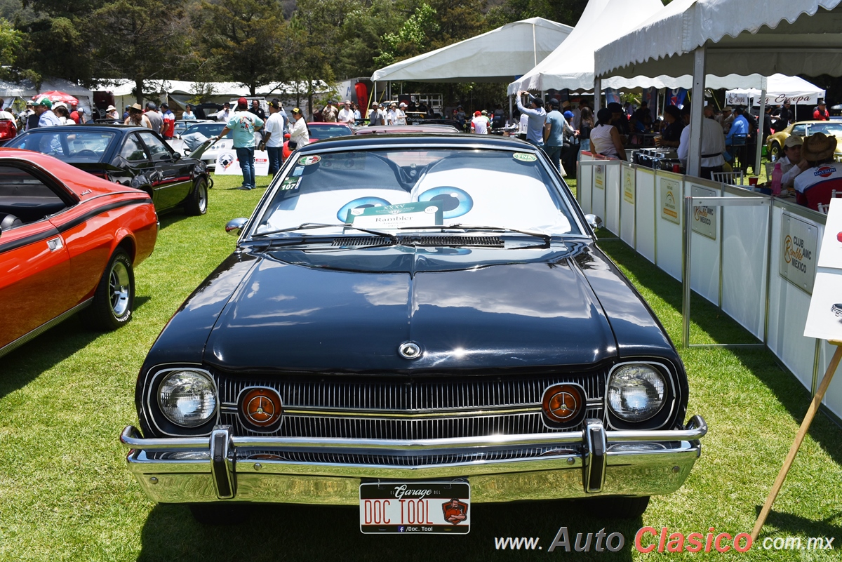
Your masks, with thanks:
[[(803, 337), (824, 216), (746, 189), (627, 162), (605, 168), (610, 172), (598, 180), (594, 165), (579, 167), (585, 212), (603, 217), (622, 241), (677, 279), (683, 275), (685, 196), (758, 202), (695, 209), (690, 288), (765, 342), (805, 388), (815, 390), (817, 374), (834, 352), (826, 342)], [(600, 187), (594, 186), (598, 181)], [(669, 213), (673, 209), (678, 222)], [(842, 377), (834, 379), (823, 404), (842, 417)]]

